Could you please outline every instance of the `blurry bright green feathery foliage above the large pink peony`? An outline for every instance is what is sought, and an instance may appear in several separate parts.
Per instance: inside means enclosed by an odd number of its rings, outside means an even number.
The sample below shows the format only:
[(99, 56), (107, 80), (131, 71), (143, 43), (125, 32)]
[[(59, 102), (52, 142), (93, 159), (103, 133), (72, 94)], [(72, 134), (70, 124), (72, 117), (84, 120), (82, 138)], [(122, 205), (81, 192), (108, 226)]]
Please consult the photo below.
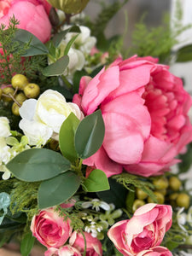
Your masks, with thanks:
[(157, 27), (147, 27), (144, 24), (144, 16), (135, 25), (132, 34), (132, 47), (129, 55), (158, 57), (160, 62), (169, 62), (172, 58), (172, 47), (177, 44), (177, 36), (190, 26), (181, 25), (182, 12), (177, 6), (175, 20), (171, 27), (170, 17), (164, 16), (162, 25)]

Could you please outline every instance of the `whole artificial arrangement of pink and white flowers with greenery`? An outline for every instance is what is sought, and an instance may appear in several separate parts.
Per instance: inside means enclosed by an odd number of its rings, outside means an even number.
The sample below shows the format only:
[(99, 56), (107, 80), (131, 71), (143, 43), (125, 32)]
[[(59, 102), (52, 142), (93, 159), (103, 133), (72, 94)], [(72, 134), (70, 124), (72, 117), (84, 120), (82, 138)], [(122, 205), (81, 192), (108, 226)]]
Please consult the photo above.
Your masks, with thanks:
[(127, 1), (95, 22), (88, 2), (0, 2), (0, 244), (19, 241), (22, 256), (37, 242), (45, 256), (189, 253), (179, 174), (191, 163), (192, 100), (166, 65), (186, 27), (167, 28), (159, 47), (161, 27), (141, 43), (139, 24), (139, 55), (127, 57), (122, 37), (103, 32)]

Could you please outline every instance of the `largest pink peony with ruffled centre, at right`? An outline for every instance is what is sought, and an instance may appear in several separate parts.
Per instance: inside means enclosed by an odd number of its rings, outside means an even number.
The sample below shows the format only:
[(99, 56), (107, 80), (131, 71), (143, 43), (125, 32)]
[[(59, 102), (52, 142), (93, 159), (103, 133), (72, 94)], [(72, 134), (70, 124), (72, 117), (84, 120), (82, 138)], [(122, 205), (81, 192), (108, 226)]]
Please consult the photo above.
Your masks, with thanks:
[(96, 154), (84, 164), (108, 177), (127, 172), (149, 177), (177, 163), (176, 155), (192, 141), (188, 112), (191, 97), (182, 80), (152, 57), (133, 56), (96, 75), (83, 77), (79, 104), (85, 115), (102, 110), (105, 137)]

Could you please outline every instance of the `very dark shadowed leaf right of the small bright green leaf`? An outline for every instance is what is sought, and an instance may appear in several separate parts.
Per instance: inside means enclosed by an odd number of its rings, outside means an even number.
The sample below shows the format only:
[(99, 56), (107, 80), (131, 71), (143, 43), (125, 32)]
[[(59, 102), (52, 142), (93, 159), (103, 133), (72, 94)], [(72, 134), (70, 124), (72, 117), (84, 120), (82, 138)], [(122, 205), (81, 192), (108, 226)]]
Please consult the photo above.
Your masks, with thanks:
[(125, 207), (127, 189), (115, 181), (113, 178), (108, 179), (110, 189), (107, 191), (97, 192), (96, 195), (108, 203), (113, 203), (116, 208)]

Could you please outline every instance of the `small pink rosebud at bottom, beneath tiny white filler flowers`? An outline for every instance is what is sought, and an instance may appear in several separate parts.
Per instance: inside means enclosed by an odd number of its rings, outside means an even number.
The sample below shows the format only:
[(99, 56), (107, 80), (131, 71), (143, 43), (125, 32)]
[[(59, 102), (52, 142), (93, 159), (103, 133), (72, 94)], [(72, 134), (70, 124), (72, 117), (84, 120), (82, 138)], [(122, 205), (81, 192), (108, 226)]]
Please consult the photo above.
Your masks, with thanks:
[[(86, 256), (102, 256), (102, 243), (96, 237), (90, 235), (90, 233), (84, 232), (86, 239)], [(69, 239), (69, 244), (79, 250), (80, 253), (84, 253), (84, 237), (73, 232)]]

